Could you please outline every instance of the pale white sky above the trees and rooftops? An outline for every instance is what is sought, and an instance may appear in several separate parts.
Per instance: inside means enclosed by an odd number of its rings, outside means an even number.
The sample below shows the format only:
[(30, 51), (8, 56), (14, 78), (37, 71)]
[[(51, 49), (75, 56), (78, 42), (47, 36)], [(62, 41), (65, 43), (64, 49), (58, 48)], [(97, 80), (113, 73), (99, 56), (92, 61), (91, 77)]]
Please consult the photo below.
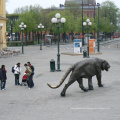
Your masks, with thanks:
[[(96, 0), (96, 3), (102, 3), (106, 0)], [(120, 8), (120, 0), (110, 0)], [(42, 8), (50, 8), (51, 6), (59, 7), (59, 4), (64, 4), (65, 0), (8, 0), (6, 3), (6, 10), (9, 14), (14, 13), (14, 10), (24, 6), (40, 5)]]

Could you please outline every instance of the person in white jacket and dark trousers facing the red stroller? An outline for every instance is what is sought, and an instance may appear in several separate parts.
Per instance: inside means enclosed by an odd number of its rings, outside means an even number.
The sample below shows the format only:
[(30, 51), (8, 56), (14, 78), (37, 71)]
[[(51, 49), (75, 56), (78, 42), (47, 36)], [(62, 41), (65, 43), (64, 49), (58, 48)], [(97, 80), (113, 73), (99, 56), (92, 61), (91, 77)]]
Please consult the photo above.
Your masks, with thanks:
[(20, 78), (20, 74), (21, 74), (21, 67), (20, 67), (20, 63), (17, 63), (14, 66), (14, 75), (15, 75), (15, 85), (20, 85), (19, 83), (19, 78)]

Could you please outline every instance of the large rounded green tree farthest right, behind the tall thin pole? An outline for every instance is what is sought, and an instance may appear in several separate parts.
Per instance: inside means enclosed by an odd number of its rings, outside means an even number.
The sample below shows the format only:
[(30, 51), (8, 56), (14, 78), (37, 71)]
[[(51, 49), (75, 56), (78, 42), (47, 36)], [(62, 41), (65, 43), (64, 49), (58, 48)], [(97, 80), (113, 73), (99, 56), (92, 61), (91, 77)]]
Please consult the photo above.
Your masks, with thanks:
[(117, 30), (117, 13), (119, 9), (110, 1), (105, 1), (100, 8), (100, 30), (104, 32), (112, 32)]

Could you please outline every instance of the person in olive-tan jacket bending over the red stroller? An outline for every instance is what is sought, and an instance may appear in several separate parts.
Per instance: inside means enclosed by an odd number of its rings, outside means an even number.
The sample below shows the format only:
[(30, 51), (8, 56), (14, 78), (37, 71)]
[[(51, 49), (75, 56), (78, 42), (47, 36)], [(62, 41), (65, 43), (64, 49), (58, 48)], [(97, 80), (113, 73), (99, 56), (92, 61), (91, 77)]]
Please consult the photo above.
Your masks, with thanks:
[(24, 66), (26, 67), (26, 70), (27, 70), (26, 75), (28, 76), (28, 87), (29, 89), (31, 89), (33, 87), (32, 69), (27, 64), (24, 64)]

